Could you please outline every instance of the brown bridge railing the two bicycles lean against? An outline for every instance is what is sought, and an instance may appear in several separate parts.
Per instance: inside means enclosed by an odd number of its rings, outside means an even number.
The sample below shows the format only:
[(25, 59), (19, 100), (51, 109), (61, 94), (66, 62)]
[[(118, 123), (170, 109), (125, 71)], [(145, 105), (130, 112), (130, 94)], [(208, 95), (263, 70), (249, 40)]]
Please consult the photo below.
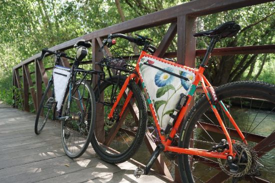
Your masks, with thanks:
[[(192, 0), (187, 3), (176, 5), (167, 9), (153, 12), (144, 16), (140, 16), (122, 23), (118, 23), (100, 30), (90, 32), (80, 37), (68, 40), (61, 44), (49, 48), (52, 51), (67, 50), (79, 39), (91, 40), (92, 42), (92, 61), (83, 62), (82, 64), (92, 64), (94, 69), (98, 67), (94, 64), (103, 56), (102, 52), (98, 52), (102, 37), (109, 33), (128, 33), (136, 30), (146, 29), (158, 25), (171, 23), (156, 52), (155, 56), (177, 57), (177, 62), (185, 64), (190, 67), (195, 65), (195, 57), (204, 54), (205, 49), (196, 50), (195, 38), (192, 34), (195, 31), (195, 19), (198, 16), (217, 13), (225, 10), (237, 9), (245, 6), (251, 6), (259, 3), (265, 3), (272, 0)], [(177, 34), (177, 50), (176, 52), (166, 52), (169, 44)], [(105, 49), (107, 54), (110, 52)], [(272, 53), (275, 52), (275, 44), (270, 45), (255, 45), (255, 46), (240, 46), (240, 47), (226, 47), (215, 48), (212, 55), (231, 55), (231, 54), (252, 54), (252, 53)], [(33, 108), (37, 111), (41, 100), (42, 83), (47, 84), (46, 70), (43, 62), (38, 61), (37, 58), (40, 53), (37, 53), (13, 67), (13, 85), (21, 92), (15, 92), (13, 99), (21, 98), (21, 104), (24, 110), (29, 111), (29, 94), (32, 98)], [(134, 57), (134, 56), (133, 56)], [(34, 70), (29, 70), (29, 64), (34, 62)], [(64, 60), (64, 66), (69, 66), (69, 62)], [(35, 75), (35, 81), (31, 79), (31, 75)], [(21, 84), (22, 82), (22, 84)], [(35, 85), (35, 86), (34, 86)], [(34, 87), (36, 89), (34, 89)], [(16, 107), (16, 106), (15, 106)], [(97, 106), (97, 111), (102, 110), (102, 106)], [(99, 121), (99, 119), (97, 118)], [(146, 145), (150, 152), (155, 148), (148, 137), (145, 138)], [(162, 157), (156, 161), (159, 172), (168, 180), (172, 181)], [(175, 179), (178, 179), (178, 173), (175, 173)]]

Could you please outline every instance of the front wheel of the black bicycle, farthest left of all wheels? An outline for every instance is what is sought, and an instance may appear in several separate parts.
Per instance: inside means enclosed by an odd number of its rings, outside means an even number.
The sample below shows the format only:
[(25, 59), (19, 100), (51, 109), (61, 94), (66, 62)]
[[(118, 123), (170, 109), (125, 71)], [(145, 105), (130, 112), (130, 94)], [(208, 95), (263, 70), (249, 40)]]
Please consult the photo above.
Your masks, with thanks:
[(52, 92), (53, 84), (52, 82), (49, 82), (41, 98), (40, 105), (36, 114), (34, 124), (35, 134), (39, 134), (42, 131), (48, 118), (51, 118), (53, 115), (54, 99), (52, 97)]

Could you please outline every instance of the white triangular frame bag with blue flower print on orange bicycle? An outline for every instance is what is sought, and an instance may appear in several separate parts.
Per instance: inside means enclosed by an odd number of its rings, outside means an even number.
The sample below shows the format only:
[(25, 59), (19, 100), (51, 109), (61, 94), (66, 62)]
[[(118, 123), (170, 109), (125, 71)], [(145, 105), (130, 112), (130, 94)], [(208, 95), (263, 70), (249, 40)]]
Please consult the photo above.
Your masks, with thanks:
[(170, 120), (180, 94), (187, 95), (195, 79), (194, 69), (172, 61), (144, 55), (139, 61), (142, 86), (148, 96), (148, 103), (156, 114), (161, 128)]

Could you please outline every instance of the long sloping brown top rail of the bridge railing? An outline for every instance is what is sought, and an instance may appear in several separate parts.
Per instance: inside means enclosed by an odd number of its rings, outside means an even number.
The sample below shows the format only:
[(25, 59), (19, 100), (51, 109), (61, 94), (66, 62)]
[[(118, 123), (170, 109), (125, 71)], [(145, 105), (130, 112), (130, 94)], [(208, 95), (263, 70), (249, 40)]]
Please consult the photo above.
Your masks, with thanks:
[[(90, 40), (96, 37), (104, 37), (108, 33), (126, 33), (135, 30), (141, 30), (161, 24), (166, 24), (176, 20), (178, 16), (184, 14), (192, 16), (201, 16), (216, 12), (222, 12), (225, 10), (241, 8), (254, 4), (270, 2), (272, 0), (195, 0), (189, 1), (180, 5), (176, 5), (170, 8), (166, 8), (160, 11), (156, 11), (144, 16), (140, 16), (122, 23), (118, 23), (100, 30), (93, 31), (91, 33), (82, 35), (80, 37), (63, 42), (56, 46), (49, 48), (51, 51), (64, 50), (71, 48), (73, 44), (80, 39)], [(171, 13), (173, 12), (173, 13)], [(21, 63), (13, 67), (13, 69), (20, 67), (23, 64), (33, 62), (38, 58), (41, 53), (37, 53)]]

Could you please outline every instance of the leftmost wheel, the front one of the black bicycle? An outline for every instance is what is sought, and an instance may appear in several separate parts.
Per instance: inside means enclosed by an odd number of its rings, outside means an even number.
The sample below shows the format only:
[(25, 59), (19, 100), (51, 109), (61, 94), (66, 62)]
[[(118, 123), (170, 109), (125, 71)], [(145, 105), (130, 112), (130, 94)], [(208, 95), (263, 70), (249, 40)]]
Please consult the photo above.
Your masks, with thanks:
[[(44, 94), (42, 95), (42, 98), (41, 98), (41, 101), (40, 101), (40, 104), (39, 104), (39, 108), (38, 108), (38, 111), (37, 111), (37, 114), (36, 114), (36, 118), (35, 118), (35, 124), (34, 124), (35, 134), (39, 134), (42, 131), (43, 127), (46, 124), (46, 121), (48, 119), (49, 114), (52, 112), (51, 108), (52, 108), (52, 104), (53, 104), (52, 101), (53, 100), (48, 101), (48, 99), (49, 99), (48, 92), (53, 92), (53, 89), (50, 89), (50, 87), (52, 85), (53, 85), (52, 82), (49, 82), (46, 89), (45, 89), (45, 91), (44, 91)], [(45, 102), (47, 102), (47, 103), (45, 103)], [(40, 115), (40, 112), (42, 111), (42, 109), (43, 109), (43, 111), (46, 111), (45, 115), (44, 115), (44, 113), (42, 115)]]

